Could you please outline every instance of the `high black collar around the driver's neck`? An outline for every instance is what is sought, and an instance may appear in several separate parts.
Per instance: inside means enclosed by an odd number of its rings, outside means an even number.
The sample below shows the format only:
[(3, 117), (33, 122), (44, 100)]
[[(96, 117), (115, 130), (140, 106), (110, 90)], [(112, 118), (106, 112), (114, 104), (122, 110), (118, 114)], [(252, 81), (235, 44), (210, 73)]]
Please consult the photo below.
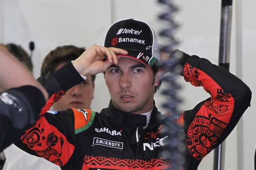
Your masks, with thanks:
[[(152, 129), (158, 125), (159, 120), (157, 115), (161, 114), (155, 106), (151, 113), (150, 122), (148, 124), (148, 129)], [(108, 105), (108, 112), (106, 113), (106, 119), (115, 125), (122, 127), (144, 127), (147, 122), (146, 115), (132, 114), (128, 112), (121, 111), (112, 105), (110, 100)]]

